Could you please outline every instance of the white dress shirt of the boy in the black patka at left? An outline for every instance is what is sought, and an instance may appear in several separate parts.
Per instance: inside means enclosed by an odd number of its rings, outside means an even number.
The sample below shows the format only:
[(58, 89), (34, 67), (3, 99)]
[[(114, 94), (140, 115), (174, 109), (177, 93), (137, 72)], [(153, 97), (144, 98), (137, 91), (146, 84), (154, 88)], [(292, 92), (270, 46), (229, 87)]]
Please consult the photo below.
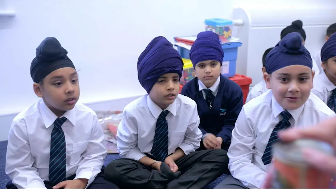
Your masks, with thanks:
[[(107, 155), (103, 130), (93, 110), (77, 103), (62, 117), (66, 139), (67, 177), (88, 179), (90, 185)], [(6, 174), (17, 188), (46, 188), (49, 180), (51, 131), (57, 116), (39, 100), (19, 113), (9, 130)]]

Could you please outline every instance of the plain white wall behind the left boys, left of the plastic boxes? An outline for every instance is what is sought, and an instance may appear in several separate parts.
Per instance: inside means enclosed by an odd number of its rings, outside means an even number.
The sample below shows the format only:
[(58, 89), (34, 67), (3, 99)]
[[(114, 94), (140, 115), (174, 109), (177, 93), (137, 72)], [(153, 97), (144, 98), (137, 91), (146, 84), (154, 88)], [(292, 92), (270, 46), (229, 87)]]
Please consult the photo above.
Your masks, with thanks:
[[(0, 19), (0, 141), (7, 140), (13, 116), (38, 100), (30, 64), (45, 37), (68, 50), (82, 103), (134, 99), (145, 93), (136, 64), (150, 40), (162, 35), (173, 42), (204, 31), (206, 18), (231, 19), (233, 0), (0, 0), (0, 12), (7, 8), (16, 17)], [(122, 110), (125, 103), (107, 107)]]

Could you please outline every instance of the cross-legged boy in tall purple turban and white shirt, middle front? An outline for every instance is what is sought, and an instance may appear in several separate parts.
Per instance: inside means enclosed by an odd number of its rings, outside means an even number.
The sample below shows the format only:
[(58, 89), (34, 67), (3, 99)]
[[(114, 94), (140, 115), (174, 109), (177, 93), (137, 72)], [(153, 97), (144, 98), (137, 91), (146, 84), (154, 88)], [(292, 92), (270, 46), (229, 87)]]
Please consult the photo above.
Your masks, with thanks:
[(226, 151), (195, 152), (200, 119), (196, 103), (178, 94), (183, 62), (173, 45), (154, 38), (137, 68), (148, 94), (125, 107), (117, 133), (125, 158), (107, 165), (105, 179), (121, 188), (204, 188), (227, 172)]

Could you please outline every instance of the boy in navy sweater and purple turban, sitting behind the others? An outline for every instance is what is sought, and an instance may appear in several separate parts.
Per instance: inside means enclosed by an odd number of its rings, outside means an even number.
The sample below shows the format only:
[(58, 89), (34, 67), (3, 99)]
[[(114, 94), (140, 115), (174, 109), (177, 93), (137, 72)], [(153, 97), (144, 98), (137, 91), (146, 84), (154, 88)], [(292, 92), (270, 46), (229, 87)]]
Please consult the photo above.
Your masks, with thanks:
[(183, 86), (181, 94), (197, 104), (201, 119), (199, 128), (203, 134), (199, 150), (227, 151), (232, 129), (243, 106), (242, 89), (220, 74), (224, 52), (216, 33), (199, 33), (189, 56), (197, 77)]

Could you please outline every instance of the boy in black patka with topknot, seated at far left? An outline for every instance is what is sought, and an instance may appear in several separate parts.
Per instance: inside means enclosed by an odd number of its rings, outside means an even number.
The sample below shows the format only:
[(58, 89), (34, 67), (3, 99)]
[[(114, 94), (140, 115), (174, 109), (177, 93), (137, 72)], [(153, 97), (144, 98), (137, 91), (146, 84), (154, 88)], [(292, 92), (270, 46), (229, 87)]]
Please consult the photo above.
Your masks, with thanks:
[(54, 37), (36, 49), (30, 73), (42, 100), (19, 113), (9, 130), (7, 188), (118, 188), (104, 180), (104, 133), (79, 99), (78, 74)]

